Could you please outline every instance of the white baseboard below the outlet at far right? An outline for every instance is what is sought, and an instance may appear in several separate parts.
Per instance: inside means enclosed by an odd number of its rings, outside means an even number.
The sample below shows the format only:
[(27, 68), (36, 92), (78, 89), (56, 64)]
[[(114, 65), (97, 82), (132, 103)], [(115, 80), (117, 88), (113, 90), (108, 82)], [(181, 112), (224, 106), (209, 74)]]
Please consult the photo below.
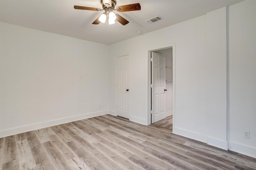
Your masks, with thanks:
[(228, 149), (232, 150), (234, 152), (238, 152), (238, 153), (245, 154), (247, 156), (252, 156), (252, 157), (256, 158), (256, 148), (229, 142)]

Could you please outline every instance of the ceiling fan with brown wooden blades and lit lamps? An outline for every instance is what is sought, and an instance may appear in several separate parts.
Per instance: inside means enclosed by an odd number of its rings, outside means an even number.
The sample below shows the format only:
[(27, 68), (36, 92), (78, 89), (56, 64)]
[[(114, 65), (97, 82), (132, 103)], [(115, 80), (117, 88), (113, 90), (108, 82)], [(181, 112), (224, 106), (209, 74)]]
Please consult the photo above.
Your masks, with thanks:
[[(140, 4), (129, 4), (129, 5), (122, 5), (116, 7), (116, 0), (100, 0), (102, 5), (102, 10), (100, 8), (92, 8), (87, 6), (74, 6), (76, 10), (90, 10), (90, 11), (105, 11), (101, 14), (92, 24), (99, 24), (100, 22), (105, 23), (107, 16), (108, 16), (108, 23), (113, 24), (115, 20), (120, 22), (122, 25), (126, 25), (129, 23), (126, 19), (124, 19), (119, 14), (115, 14), (113, 11), (117, 12), (127, 12), (127, 11), (137, 11), (140, 10)], [(116, 9), (115, 9), (116, 7)]]

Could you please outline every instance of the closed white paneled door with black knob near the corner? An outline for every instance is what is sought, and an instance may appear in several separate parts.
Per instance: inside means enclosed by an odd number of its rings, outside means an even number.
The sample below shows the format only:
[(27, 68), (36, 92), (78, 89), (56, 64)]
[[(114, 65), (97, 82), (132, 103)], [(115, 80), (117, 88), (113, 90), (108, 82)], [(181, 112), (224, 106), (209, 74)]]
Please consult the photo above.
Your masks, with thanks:
[(116, 115), (130, 119), (130, 55), (117, 57)]

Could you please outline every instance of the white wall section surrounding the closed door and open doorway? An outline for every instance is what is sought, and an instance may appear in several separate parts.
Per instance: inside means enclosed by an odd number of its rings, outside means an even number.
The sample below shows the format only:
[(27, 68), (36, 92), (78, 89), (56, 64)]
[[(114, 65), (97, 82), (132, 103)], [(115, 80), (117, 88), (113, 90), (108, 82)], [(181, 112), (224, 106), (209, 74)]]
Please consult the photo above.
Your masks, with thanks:
[[(174, 131), (206, 135), (206, 16), (110, 46), (110, 110), (115, 110), (115, 60), (131, 56), (131, 120), (147, 124), (147, 50), (175, 43), (176, 123)], [(196, 122), (197, 123), (188, 123)], [(194, 133), (193, 133), (194, 134)], [(206, 141), (206, 138), (204, 138)], [(202, 140), (201, 140), (202, 141)]]

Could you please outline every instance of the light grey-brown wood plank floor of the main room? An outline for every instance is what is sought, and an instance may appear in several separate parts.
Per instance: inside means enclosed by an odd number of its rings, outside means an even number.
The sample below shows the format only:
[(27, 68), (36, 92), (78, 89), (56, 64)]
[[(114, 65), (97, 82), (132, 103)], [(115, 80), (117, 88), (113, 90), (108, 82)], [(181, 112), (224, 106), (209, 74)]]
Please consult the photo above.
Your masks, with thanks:
[(0, 138), (3, 170), (256, 169), (256, 158), (103, 115)]

